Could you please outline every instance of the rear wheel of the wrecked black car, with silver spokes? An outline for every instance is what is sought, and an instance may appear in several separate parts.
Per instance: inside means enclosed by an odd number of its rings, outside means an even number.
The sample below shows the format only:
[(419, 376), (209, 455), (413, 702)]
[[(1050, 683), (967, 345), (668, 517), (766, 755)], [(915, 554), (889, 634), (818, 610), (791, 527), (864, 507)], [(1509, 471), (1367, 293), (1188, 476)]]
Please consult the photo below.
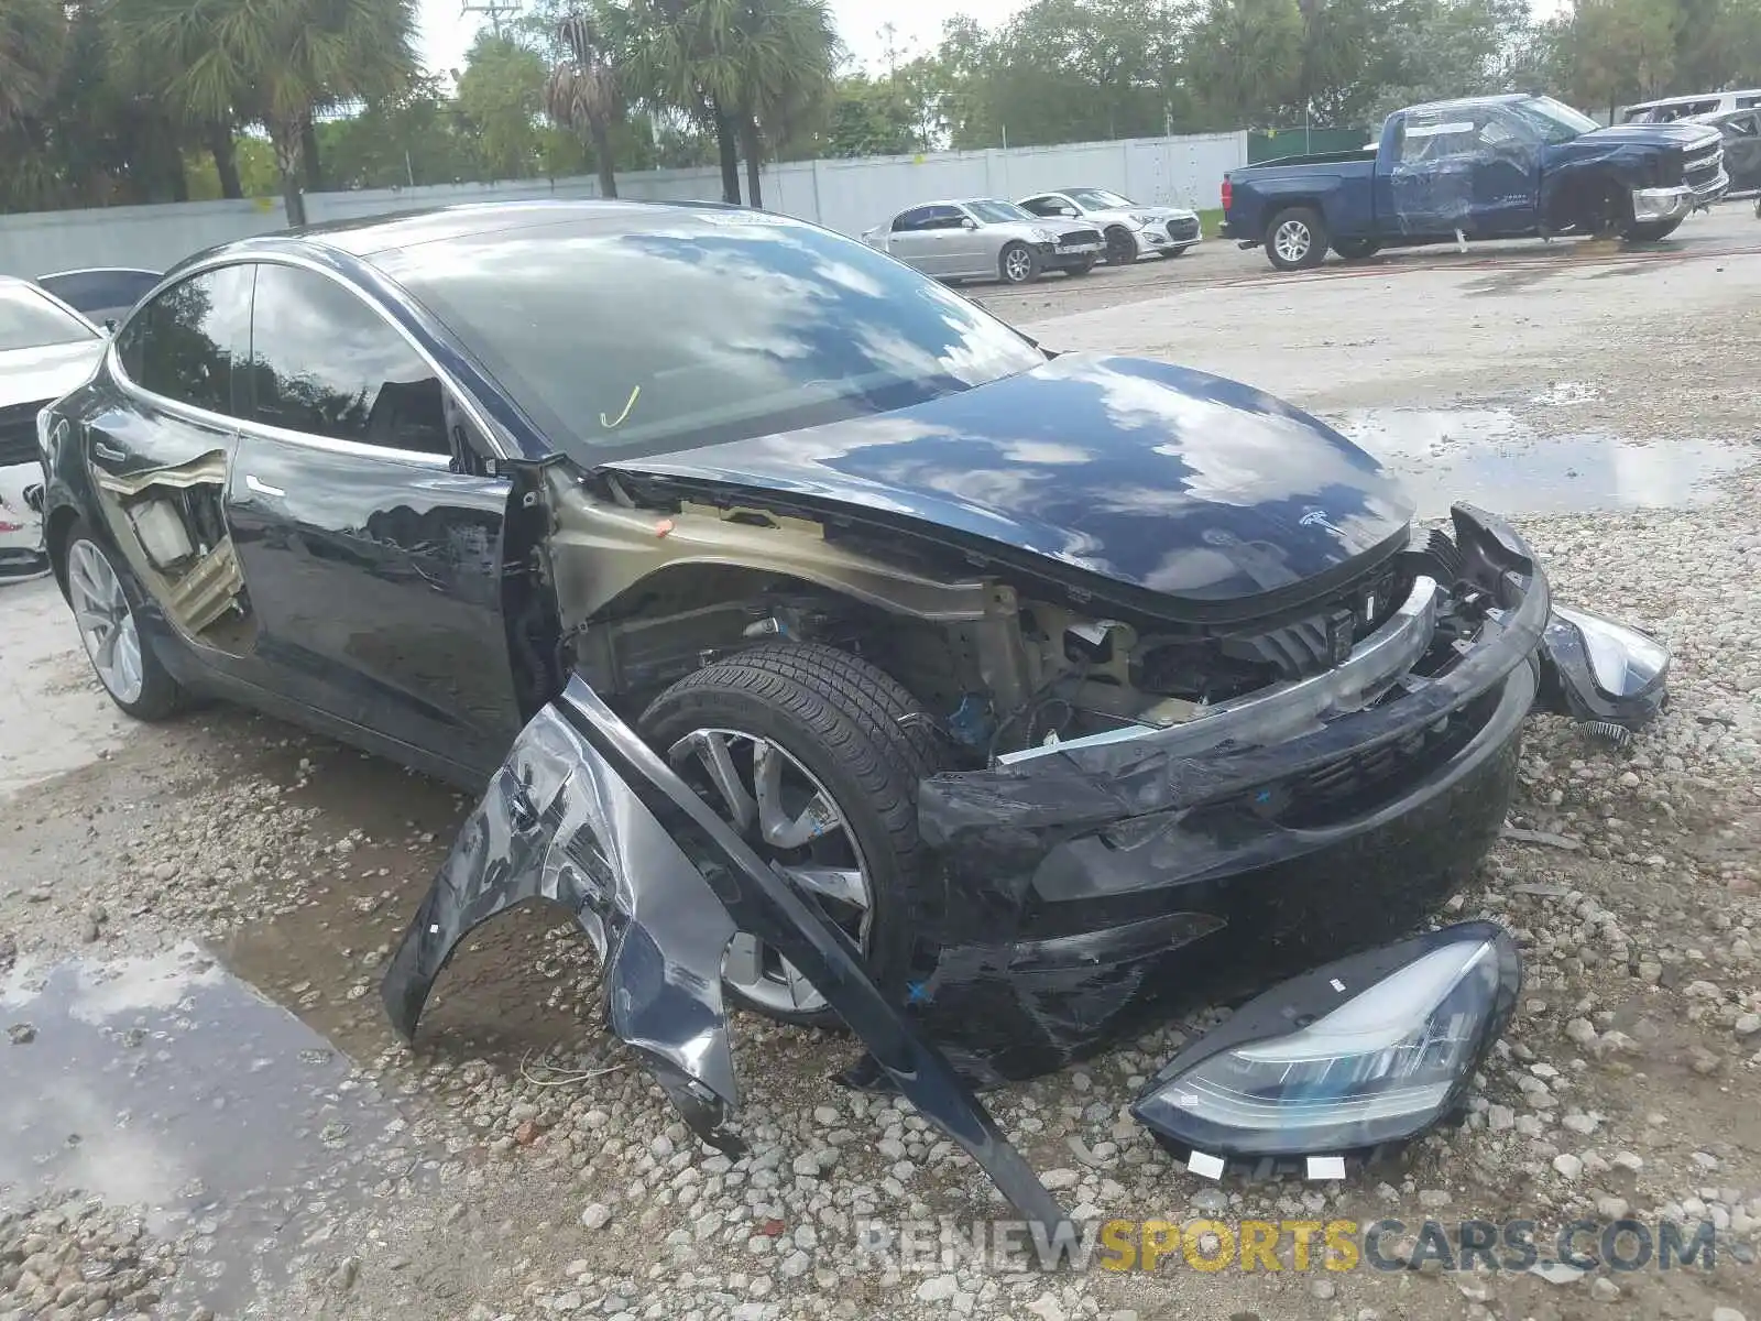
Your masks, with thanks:
[(129, 565), (111, 558), (85, 520), (69, 528), (62, 565), (79, 641), (109, 699), (136, 720), (167, 720), (183, 712), (190, 694), (141, 636), (146, 594)]

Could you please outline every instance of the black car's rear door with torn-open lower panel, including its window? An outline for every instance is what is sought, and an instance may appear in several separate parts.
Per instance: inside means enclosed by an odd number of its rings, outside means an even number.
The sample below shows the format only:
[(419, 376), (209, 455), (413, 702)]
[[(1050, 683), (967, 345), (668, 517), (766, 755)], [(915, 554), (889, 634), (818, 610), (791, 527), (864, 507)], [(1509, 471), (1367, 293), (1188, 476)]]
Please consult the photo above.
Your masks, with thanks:
[(114, 389), (86, 417), (83, 444), (93, 513), (158, 613), (199, 660), (259, 682), (257, 620), (224, 516), (252, 273), (199, 271), (129, 319), (107, 373)]

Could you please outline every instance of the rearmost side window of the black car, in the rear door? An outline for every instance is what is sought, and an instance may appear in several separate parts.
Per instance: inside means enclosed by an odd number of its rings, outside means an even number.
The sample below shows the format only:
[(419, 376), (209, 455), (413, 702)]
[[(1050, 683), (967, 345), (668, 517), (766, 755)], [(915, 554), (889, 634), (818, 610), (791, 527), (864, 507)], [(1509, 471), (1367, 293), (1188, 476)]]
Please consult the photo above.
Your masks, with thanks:
[(234, 365), (250, 335), (254, 266), (192, 275), (139, 308), (116, 335), (123, 372), (143, 389), (232, 414)]

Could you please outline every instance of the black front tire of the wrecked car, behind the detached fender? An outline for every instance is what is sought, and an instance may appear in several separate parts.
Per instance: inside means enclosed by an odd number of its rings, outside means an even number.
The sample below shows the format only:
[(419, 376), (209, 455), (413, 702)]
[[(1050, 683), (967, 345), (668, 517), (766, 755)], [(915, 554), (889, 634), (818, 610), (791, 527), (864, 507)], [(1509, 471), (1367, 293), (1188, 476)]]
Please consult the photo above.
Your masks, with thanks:
[[(923, 706), (889, 675), (847, 652), (819, 643), (766, 643), (682, 678), (643, 712), (639, 729), (724, 819), (731, 817), (727, 800), (710, 779), (701, 745), (690, 745), (703, 731), (738, 731), (766, 740), (787, 754), (794, 771), (817, 782), (842, 823), (840, 830), (824, 830), (824, 819), (815, 821), (817, 833), (805, 849), (822, 852), (801, 856), (803, 849), (766, 844), (757, 823), (748, 823), (741, 833), (759, 856), (785, 868), (814, 863), (836, 868), (842, 861), (836, 852), (854, 845), (868, 891), (866, 923), (845, 921), (854, 918), (851, 905), (828, 900), (826, 907), (845, 930), (858, 926), (852, 935), (880, 988), (902, 992), (914, 914), (926, 900), (917, 782), (942, 764), (935, 726)], [(726, 743), (729, 764), (745, 777), (750, 763), (741, 761), (741, 745), (734, 738)], [(789, 768), (780, 771), (784, 787), (789, 775)], [(743, 787), (747, 784), (743, 779)], [(757, 798), (755, 784), (752, 787)], [(763, 951), (763, 958), (775, 958), (775, 953)], [(773, 981), (782, 990), (775, 990)], [(785, 965), (766, 965), (764, 981), (748, 981), (748, 986), (729, 979), (727, 993), (780, 1022), (810, 1027), (838, 1022), (824, 1002), (808, 1007), (787, 1002)]]

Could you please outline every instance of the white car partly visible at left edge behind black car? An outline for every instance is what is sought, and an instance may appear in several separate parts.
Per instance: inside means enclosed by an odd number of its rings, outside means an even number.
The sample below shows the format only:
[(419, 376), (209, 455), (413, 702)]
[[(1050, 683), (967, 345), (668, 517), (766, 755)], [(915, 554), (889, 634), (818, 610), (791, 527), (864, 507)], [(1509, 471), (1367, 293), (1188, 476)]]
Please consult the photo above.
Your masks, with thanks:
[(0, 581), (44, 567), (42, 520), (25, 500), (42, 484), (37, 412), (83, 386), (106, 343), (67, 303), (0, 277)]

